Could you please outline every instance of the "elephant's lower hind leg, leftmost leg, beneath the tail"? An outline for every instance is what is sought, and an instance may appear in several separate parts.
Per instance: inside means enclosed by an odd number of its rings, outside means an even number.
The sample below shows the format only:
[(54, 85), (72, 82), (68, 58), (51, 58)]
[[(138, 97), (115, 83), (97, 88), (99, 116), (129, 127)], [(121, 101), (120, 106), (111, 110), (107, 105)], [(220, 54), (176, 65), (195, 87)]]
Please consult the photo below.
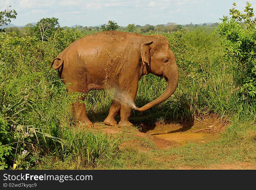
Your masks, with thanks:
[(85, 105), (83, 103), (73, 103), (72, 110), (78, 126), (93, 127), (93, 123), (87, 117)]

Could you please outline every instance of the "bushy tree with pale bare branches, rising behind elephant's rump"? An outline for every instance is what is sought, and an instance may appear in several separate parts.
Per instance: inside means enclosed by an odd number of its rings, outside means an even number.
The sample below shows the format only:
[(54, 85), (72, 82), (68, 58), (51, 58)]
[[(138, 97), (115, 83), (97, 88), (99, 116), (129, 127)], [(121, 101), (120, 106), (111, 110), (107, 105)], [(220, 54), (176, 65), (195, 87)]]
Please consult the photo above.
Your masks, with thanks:
[(57, 18), (42, 18), (37, 24), (33, 27), (35, 33), (40, 35), (42, 41), (48, 40), (51, 34), (57, 31), (60, 28), (60, 24)]

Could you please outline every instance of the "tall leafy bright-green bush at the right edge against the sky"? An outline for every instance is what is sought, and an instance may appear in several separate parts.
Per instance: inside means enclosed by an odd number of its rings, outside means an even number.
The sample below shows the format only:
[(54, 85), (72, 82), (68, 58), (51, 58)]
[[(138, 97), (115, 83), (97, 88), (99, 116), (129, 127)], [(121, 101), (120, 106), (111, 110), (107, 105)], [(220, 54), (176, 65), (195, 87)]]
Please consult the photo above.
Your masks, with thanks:
[(235, 80), (240, 86), (240, 92), (248, 97), (256, 96), (256, 19), (253, 8), (246, 3), (242, 13), (235, 8), (236, 3), (229, 11), (232, 17), (223, 16), (218, 31), (225, 45), (225, 55), (232, 61), (236, 70)]

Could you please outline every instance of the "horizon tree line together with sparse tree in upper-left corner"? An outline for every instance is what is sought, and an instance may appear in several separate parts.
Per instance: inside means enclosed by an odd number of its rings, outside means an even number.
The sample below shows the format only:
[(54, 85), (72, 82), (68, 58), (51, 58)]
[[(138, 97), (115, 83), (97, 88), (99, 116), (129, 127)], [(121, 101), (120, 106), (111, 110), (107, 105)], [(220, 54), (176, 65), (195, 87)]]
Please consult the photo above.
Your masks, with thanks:
[[(17, 12), (15, 10), (4, 10), (0, 12), (0, 27), (3, 25), (7, 25), (11, 22), (11, 19), (15, 19), (17, 16)], [(206, 26), (207, 24), (202, 24), (203, 26)], [(217, 26), (218, 23), (214, 23), (213, 26)], [(185, 26), (169, 22), (167, 24), (158, 24), (158, 25), (150, 25), (146, 24), (144, 26), (141, 25), (135, 25), (128, 24), (126, 27), (119, 26), (118, 23), (115, 21), (108, 21), (107, 24), (102, 24), (101, 27), (99, 26), (81, 26), (78, 25), (76, 27), (72, 27), (71, 29), (74, 31), (80, 31), (81, 34), (88, 35), (97, 33), (100, 31), (125, 31), (125, 32), (135, 32), (140, 34), (163, 34), (163, 33), (171, 33), (175, 32), (177, 30), (182, 29), (183, 27), (199, 27), (199, 25), (194, 25), (192, 23), (187, 24)], [(17, 27), (10, 27), (1, 29), (5, 32), (13, 32), (15, 31), (18, 36), (36, 36), (42, 41), (48, 41), (49, 37), (55, 33), (56, 31), (66, 30), (66, 28), (69, 28), (67, 26), (60, 27), (60, 24), (58, 22), (58, 19), (55, 17), (52, 18), (42, 18), (40, 21), (38, 21), (35, 25), (32, 25), (31, 23), (27, 24), (25, 27), (17, 28)], [(0, 30), (0, 31), (1, 31)]]

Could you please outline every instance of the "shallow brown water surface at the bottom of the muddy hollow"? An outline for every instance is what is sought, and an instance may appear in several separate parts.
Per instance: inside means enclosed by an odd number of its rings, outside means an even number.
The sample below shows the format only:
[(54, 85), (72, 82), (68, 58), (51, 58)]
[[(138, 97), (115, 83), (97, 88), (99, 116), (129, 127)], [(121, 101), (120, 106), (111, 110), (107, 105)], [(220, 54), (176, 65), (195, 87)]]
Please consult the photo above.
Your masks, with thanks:
[(153, 134), (157, 138), (177, 142), (181, 145), (185, 145), (189, 142), (196, 142), (198, 144), (204, 144), (210, 140), (218, 138), (218, 134), (212, 135), (207, 133), (193, 133), (193, 132), (175, 132), (175, 133), (164, 133), (164, 134)]

